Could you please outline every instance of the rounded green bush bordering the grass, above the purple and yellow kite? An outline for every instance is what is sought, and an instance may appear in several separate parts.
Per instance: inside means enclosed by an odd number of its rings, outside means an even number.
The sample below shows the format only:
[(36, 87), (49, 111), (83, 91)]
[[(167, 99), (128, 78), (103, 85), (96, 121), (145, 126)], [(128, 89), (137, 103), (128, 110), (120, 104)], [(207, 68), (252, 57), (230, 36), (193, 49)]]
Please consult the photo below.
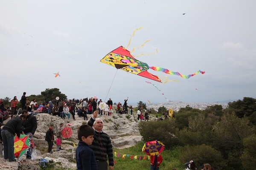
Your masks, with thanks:
[(165, 144), (166, 148), (177, 145), (177, 128), (171, 119), (154, 122), (140, 122), (139, 130), (144, 141), (158, 140)]

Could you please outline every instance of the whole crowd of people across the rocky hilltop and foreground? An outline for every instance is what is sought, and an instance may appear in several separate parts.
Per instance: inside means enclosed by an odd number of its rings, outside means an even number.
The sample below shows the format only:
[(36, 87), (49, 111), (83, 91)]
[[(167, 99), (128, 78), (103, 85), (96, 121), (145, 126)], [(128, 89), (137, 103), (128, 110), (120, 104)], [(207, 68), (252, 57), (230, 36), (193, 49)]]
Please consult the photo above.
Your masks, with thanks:
[[(111, 115), (113, 113), (113, 102), (111, 98), (108, 100), (105, 109), (99, 109), (101, 107), (100, 103), (102, 100), (97, 101), (97, 98), (83, 99), (83, 100), (61, 100), (53, 99), (48, 102), (42, 102), (38, 105), (36, 99), (33, 99), (31, 102), (27, 100), (25, 96), (26, 93), (23, 93), (22, 98), (20, 99), (21, 108), (17, 109), (17, 97), (15, 96), (11, 100), (11, 107), (5, 108), (3, 106), (3, 101), (0, 99), (0, 122), (3, 122), (6, 113), (11, 113), (11, 118), (1, 130), (1, 139), (3, 141), (3, 151), (4, 159), (9, 161), (16, 161), (14, 156), (14, 136), (17, 135), (20, 138), (20, 134), (28, 135), (30, 141), (32, 141), (33, 135), (37, 128), (37, 119), (34, 114), (38, 113), (49, 113), (52, 115), (58, 115), (62, 119), (68, 119), (72, 115), (75, 119), (75, 113), (79, 117), (83, 117), (84, 120), (88, 120), (87, 114), (93, 114), (90, 120), (87, 122), (87, 125), (81, 125), (78, 130), (78, 147), (76, 149), (76, 163), (78, 170), (91, 169), (91, 170), (113, 170), (114, 161), (113, 161), (113, 149), (111, 144), (111, 139), (108, 134), (102, 131), (104, 126), (102, 119), (98, 117), (98, 114)], [(128, 98), (124, 100), (124, 105), (122, 106), (119, 102), (116, 107), (116, 113), (119, 114), (128, 114), (127, 105)], [(79, 107), (79, 104), (82, 105)], [(137, 111), (138, 120), (144, 120), (143, 107), (141, 106)], [(14, 115), (19, 115), (15, 116)], [(167, 114), (166, 114), (167, 115)], [(168, 119), (165, 115), (165, 119)], [(145, 121), (148, 121), (148, 111), (145, 111)], [(45, 140), (48, 143), (48, 152), (52, 153), (53, 143), (56, 142), (56, 151), (62, 150), (61, 140), (62, 134), (61, 131), (64, 127), (64, 124), (61, 123), (57, 128), (57, 139), (54, 139), (54, 127), (55, 125), (49, 125), (49, 129), (46, 132)], [(93, 127), (93, 128), (92, 128)], [(33, 143), (33, 142), (32, 142)], [(31, 149), (29, 148), (26, 153), (26, 158), (31, 159)], [(160, 164), (163, 161), (162, 156), (159, 154), (157, 156), (151, 156), (150, 164), (151, 170), (159, 170)], [(194, 161), (190, 161), (186, 170), (199, 170), (195, 165)], [(204, 167), (201, 170), (213, 170), (209, 164), (204, 164)]]

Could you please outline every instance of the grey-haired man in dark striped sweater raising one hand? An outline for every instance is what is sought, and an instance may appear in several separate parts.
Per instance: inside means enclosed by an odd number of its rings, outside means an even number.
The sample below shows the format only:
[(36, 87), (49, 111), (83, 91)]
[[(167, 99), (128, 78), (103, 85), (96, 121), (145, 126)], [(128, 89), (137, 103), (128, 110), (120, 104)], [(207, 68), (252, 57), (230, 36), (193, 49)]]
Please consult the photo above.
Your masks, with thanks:
[(88, 125), (93, 127), (95, 130), (95, 134), (93, 136), (94, 140), (90, 147), (95, 154), (98, 170), (113, 170), (114, 161), (111, 140), (108, 134), (102, 131), (103, 121), (97, 118), (98, 113), (99, 111), (94, 111), (93, 116), (88, 121)]

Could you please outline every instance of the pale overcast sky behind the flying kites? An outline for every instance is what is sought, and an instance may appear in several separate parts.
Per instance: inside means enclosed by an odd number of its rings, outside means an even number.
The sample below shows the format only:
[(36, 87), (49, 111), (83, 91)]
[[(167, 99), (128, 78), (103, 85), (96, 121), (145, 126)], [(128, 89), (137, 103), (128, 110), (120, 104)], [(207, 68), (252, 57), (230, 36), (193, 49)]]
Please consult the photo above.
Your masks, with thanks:
[[(256, 98), (255, 0), (1, 0), (0, 98), (58, 88), (69, 99), (216, 102)], [(186, 13), (186, 14), (184, 14)], [(132, 55), (180, 74), (155, 82), (100, 62)], [(156, 53), (157, 49), (157, 53)], [(60, 77), (53, 73), (59, 72)], [(148, 70), (165, 77), (167, 74)], [(149, 81), (157, 86), (164, 96)]]

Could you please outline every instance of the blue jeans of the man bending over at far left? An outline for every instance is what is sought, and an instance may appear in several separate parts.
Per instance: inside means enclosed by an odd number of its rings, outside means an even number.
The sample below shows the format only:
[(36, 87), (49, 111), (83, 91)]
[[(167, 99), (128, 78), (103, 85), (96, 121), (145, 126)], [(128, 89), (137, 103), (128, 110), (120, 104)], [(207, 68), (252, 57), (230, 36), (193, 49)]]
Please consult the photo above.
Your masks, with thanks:
[(9, 159), (9, 161), (14, 161), (14, 135), (8, 130), (2, 130), (1, 135), (3, 138), (3, 153), (4, 159)]

